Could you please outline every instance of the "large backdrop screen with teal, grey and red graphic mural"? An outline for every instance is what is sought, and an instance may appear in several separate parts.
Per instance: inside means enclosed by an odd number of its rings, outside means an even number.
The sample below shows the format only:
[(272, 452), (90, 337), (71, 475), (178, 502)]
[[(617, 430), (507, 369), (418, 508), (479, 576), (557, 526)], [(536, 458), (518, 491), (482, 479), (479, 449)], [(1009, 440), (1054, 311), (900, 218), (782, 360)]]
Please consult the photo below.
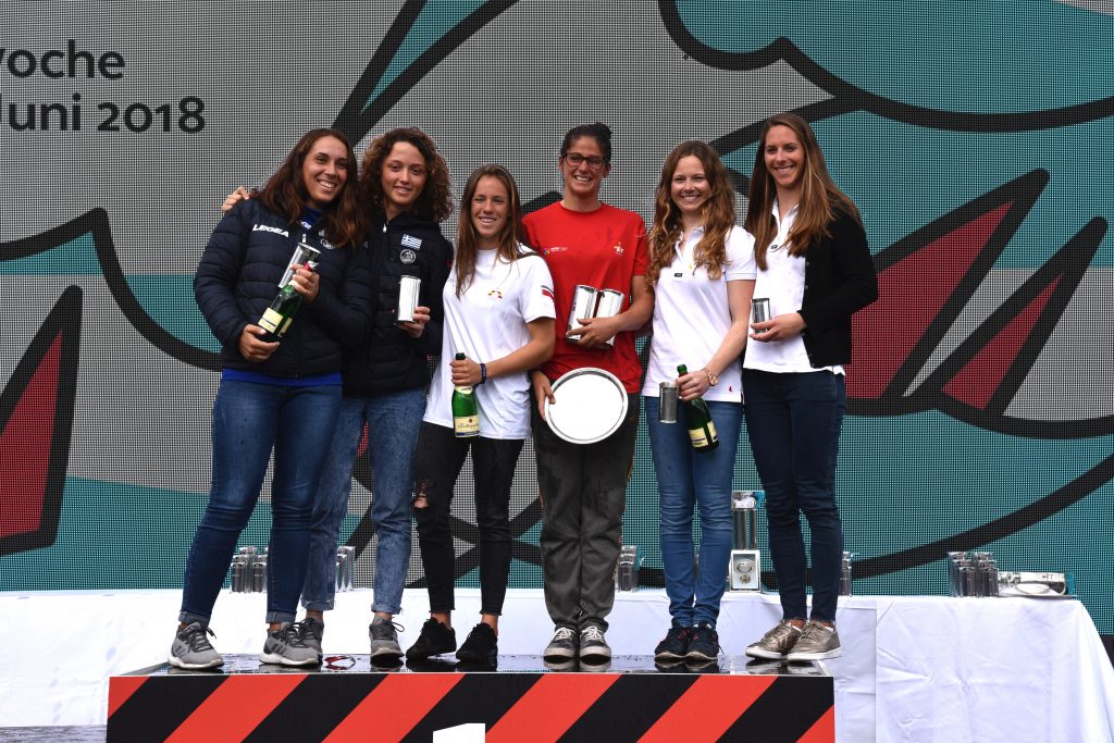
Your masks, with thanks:
[[(857, 593), (946, 592), (944, 555), (1065, 570), (1114, 633), (1114, 16), (1108, 3), (427, 0), (12, 3), (0, 31), (0, 589), (180, 586), (208, 490), (217, 346), (190, 280), (218, 206), (313, 126), (417, 125), (458, 188), (558, 197), (564, 131), (615, 131), (604, 198), (647, 218), (668, 150), (745, 194), (795, 111), (862, 209), (839, 470)], [(740, 197), (740, 206), (743, 201)], [(456, 221), (443, 225), (452, 235)], [(625, 540), (661, 584), (645, 431)], [(466, 469), (466, 476), (468, 470)], [(342, 538), (370, 583), (361, 453)], [(736, 487), (756, 489), (745, 449)], [(467, 477), (459, 578), (475, 585)], [(267, 488), (243, 544), (266, 541)], [(540, 585), (527, 447), (515, 586)], [(765, 542), (762, 541), (762, 547)], [(768, 576), (769, 578), (769, 576)], [(417, 556), (412, 585), (421, 585)]]

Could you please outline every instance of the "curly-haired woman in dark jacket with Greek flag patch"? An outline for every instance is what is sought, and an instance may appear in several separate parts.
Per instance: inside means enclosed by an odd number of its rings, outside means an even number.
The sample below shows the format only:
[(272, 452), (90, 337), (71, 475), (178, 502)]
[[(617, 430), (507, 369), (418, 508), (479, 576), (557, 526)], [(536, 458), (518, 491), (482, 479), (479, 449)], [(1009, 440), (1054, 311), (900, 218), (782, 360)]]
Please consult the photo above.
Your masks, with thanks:
[[(323, 613), (333, 608), (336, 542), (348, 515), (352, 466), (367, 424), (375, 527), (375, 594), (368, 628), (375, 663), (402, 657), (393, 616), (402, 608), (410, 565), (413, 459), (426, 411), (430, 355), (441, 350), (441, 290), (452, 245), (439, 223), (452, 209), (449, 170), (421, 129), (377, 137), (362, 163), (372, 205), (369, 258), (375, 312), (367, 343), (345, 353), (344, 399), (313, 508), (310, 566), (302, 605), (305, 638), (320, 651)], [(414, 321), (399, 323), (402, 276), (421, 281)]]

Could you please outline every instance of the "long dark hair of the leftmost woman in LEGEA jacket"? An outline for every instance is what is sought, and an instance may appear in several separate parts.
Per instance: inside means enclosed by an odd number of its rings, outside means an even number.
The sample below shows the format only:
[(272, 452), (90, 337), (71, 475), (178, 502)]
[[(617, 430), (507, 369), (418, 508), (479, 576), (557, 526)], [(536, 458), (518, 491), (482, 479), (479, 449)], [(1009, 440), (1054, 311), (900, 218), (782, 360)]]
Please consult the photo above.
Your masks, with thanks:
[(333, 137), (344, 143), (348, 153), (348, 177), (341, 186), (341, 192), (325, 204), (319, 224), (325, 238), (333, 245), (355, 247), (368, 236), (367, 208), (363, 206), (360, 190), (355, 153), (348, 137), (336, 129), (311, 129), (302, 135), (286, 155), (286, 159), (267, 179), (260, 198), (268, 211), (285, 217), (287, 224), (295, 224), (310, 201), (310, 193), (305, 189), (302, 177), (302, 166), (317, 140), (325, 137)]

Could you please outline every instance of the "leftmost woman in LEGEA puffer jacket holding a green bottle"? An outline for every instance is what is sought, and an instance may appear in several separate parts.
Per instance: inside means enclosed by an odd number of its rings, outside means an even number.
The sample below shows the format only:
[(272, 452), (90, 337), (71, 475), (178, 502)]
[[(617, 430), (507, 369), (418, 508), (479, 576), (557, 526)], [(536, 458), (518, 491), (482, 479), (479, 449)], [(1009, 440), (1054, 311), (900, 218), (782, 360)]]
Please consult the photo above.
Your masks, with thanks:
[[(355, 169), (343, 135), (310, 131), (260, 197), (221, 221), (202, 255), (194, 292), (221, 341), (223, 372), (213, 405), (209, 502), (186, 561), (172, 665), (212, 668), (223, 663), (206, 637), (212, 634), (208, 622), (272, 450), (270, 628), (260, 659), (284, 665), (317, 661), (302, 643), (294, 616), (314, 488), (340, 409), (341, 344), (364, 333), (371, 310), (367, 276), (349, 275), (367, 233)], [(303, 306), (285, 334), (270, 340), (260, 319), (300, 243), (320, 251), (317, 265), (294, 266), (289, 281)]]

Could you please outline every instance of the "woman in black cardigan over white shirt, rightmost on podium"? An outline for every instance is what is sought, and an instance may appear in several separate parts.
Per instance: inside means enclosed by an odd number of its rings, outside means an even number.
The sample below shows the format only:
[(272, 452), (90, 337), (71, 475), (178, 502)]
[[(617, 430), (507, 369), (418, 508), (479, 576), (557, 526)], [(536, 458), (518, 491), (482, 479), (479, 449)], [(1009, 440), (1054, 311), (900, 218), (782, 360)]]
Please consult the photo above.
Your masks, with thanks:
[[(832, 182), (799, 116), (774, 116), (762, 129), (745, 226), (754, 235), (754, 301), (766, 300), (770, 311), (770, 320), (751, 323), (743, 360), (746, 431), (766, 495), (783, 615), (746, 655), (831, 658), (841, 653), (836, 459), (847, 408), (843, 364), (851, 361), (851, 315), (878, 297), (878, 278), (859, 211)], [(812, 541), (811, 614), (802, 511)]]

